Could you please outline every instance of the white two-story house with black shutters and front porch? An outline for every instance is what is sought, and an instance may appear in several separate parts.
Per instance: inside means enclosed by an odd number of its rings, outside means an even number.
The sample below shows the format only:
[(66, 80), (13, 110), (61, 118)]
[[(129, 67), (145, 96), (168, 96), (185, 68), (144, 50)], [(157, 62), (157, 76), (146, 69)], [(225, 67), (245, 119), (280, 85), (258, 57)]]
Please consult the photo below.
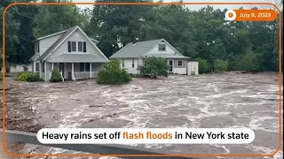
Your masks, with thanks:
[(57, 68), (63, 79), (96, 78), (109, 60), (80, 27), (71, 27), (35, 41), (35, 55), (30, 58), (32, 71), (44, 81)]

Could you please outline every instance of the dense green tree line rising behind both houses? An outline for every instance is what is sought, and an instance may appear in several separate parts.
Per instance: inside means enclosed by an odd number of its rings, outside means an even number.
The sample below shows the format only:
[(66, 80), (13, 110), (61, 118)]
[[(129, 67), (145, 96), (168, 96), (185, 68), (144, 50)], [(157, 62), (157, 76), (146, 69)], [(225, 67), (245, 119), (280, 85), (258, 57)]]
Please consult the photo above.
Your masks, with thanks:
[[(64, 1), (69, 0), (43, 0)], [(128, 2), (145, 1), (153, 2)], [(279, 6), (283, 4), (282, 0), (278, 1)], [(12, 2), (2, 0), (1, 14)], [(80, 26), (91, 38), (99, 40), (99, 49), (106, 57), (135, 37), (138, 41), (164, 38), (183, 55), (201, 61), (201, 72), (219, 72), (219, 67), (222, 67), (221, 72), (278, 71), (278, 19), (233, 22), (225, 20), (226, 9), (214, 10), (212, 6), (199, 11), (192, 9), (191, 5), (94, 5), (92, 10), (71, 5), (12, 6), (5, 18), (7, 64), (28, 64), (36, 37)], [(0, 41), (2, 43), (2, 39)]]

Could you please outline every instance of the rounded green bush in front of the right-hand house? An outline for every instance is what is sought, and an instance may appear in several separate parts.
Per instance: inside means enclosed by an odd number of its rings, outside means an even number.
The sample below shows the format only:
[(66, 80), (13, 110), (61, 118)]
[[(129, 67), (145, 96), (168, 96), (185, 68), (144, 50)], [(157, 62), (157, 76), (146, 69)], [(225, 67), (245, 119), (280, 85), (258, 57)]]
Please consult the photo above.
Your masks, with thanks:
[(168, 63), (162, 57), (147, 57), (145, 64), (139, 67), (144, 76), (156, 78), (158, 76), (168, 77)]

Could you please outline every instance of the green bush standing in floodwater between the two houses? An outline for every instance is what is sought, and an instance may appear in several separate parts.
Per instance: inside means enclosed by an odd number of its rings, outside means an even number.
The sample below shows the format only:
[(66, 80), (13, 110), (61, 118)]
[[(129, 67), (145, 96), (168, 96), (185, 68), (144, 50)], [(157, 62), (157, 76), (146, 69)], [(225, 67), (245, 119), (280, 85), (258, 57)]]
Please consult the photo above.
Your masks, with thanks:
[(129, 83), (132, 80), (131, 76), (125, 69), (121, 69), (120, 65), (119, 60), (110, 60), (105, 64), (105, 70), (98, 73), (97, 83), (107, 85)]

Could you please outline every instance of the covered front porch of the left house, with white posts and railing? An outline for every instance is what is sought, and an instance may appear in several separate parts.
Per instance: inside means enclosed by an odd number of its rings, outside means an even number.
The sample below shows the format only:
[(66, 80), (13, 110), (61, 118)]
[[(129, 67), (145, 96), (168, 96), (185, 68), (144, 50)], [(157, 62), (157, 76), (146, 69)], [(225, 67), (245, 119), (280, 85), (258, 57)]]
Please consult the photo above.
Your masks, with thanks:
[(107, 62), (107, 59), (89, 53), (61, 54), (58, 57), (51, 57), (43, 61), (41, 65), (44, 71), (41, 73), (41, 77), (45, 81), (49, 81), (52, 71), (56, 68), (63, 80), (95, 79)]

